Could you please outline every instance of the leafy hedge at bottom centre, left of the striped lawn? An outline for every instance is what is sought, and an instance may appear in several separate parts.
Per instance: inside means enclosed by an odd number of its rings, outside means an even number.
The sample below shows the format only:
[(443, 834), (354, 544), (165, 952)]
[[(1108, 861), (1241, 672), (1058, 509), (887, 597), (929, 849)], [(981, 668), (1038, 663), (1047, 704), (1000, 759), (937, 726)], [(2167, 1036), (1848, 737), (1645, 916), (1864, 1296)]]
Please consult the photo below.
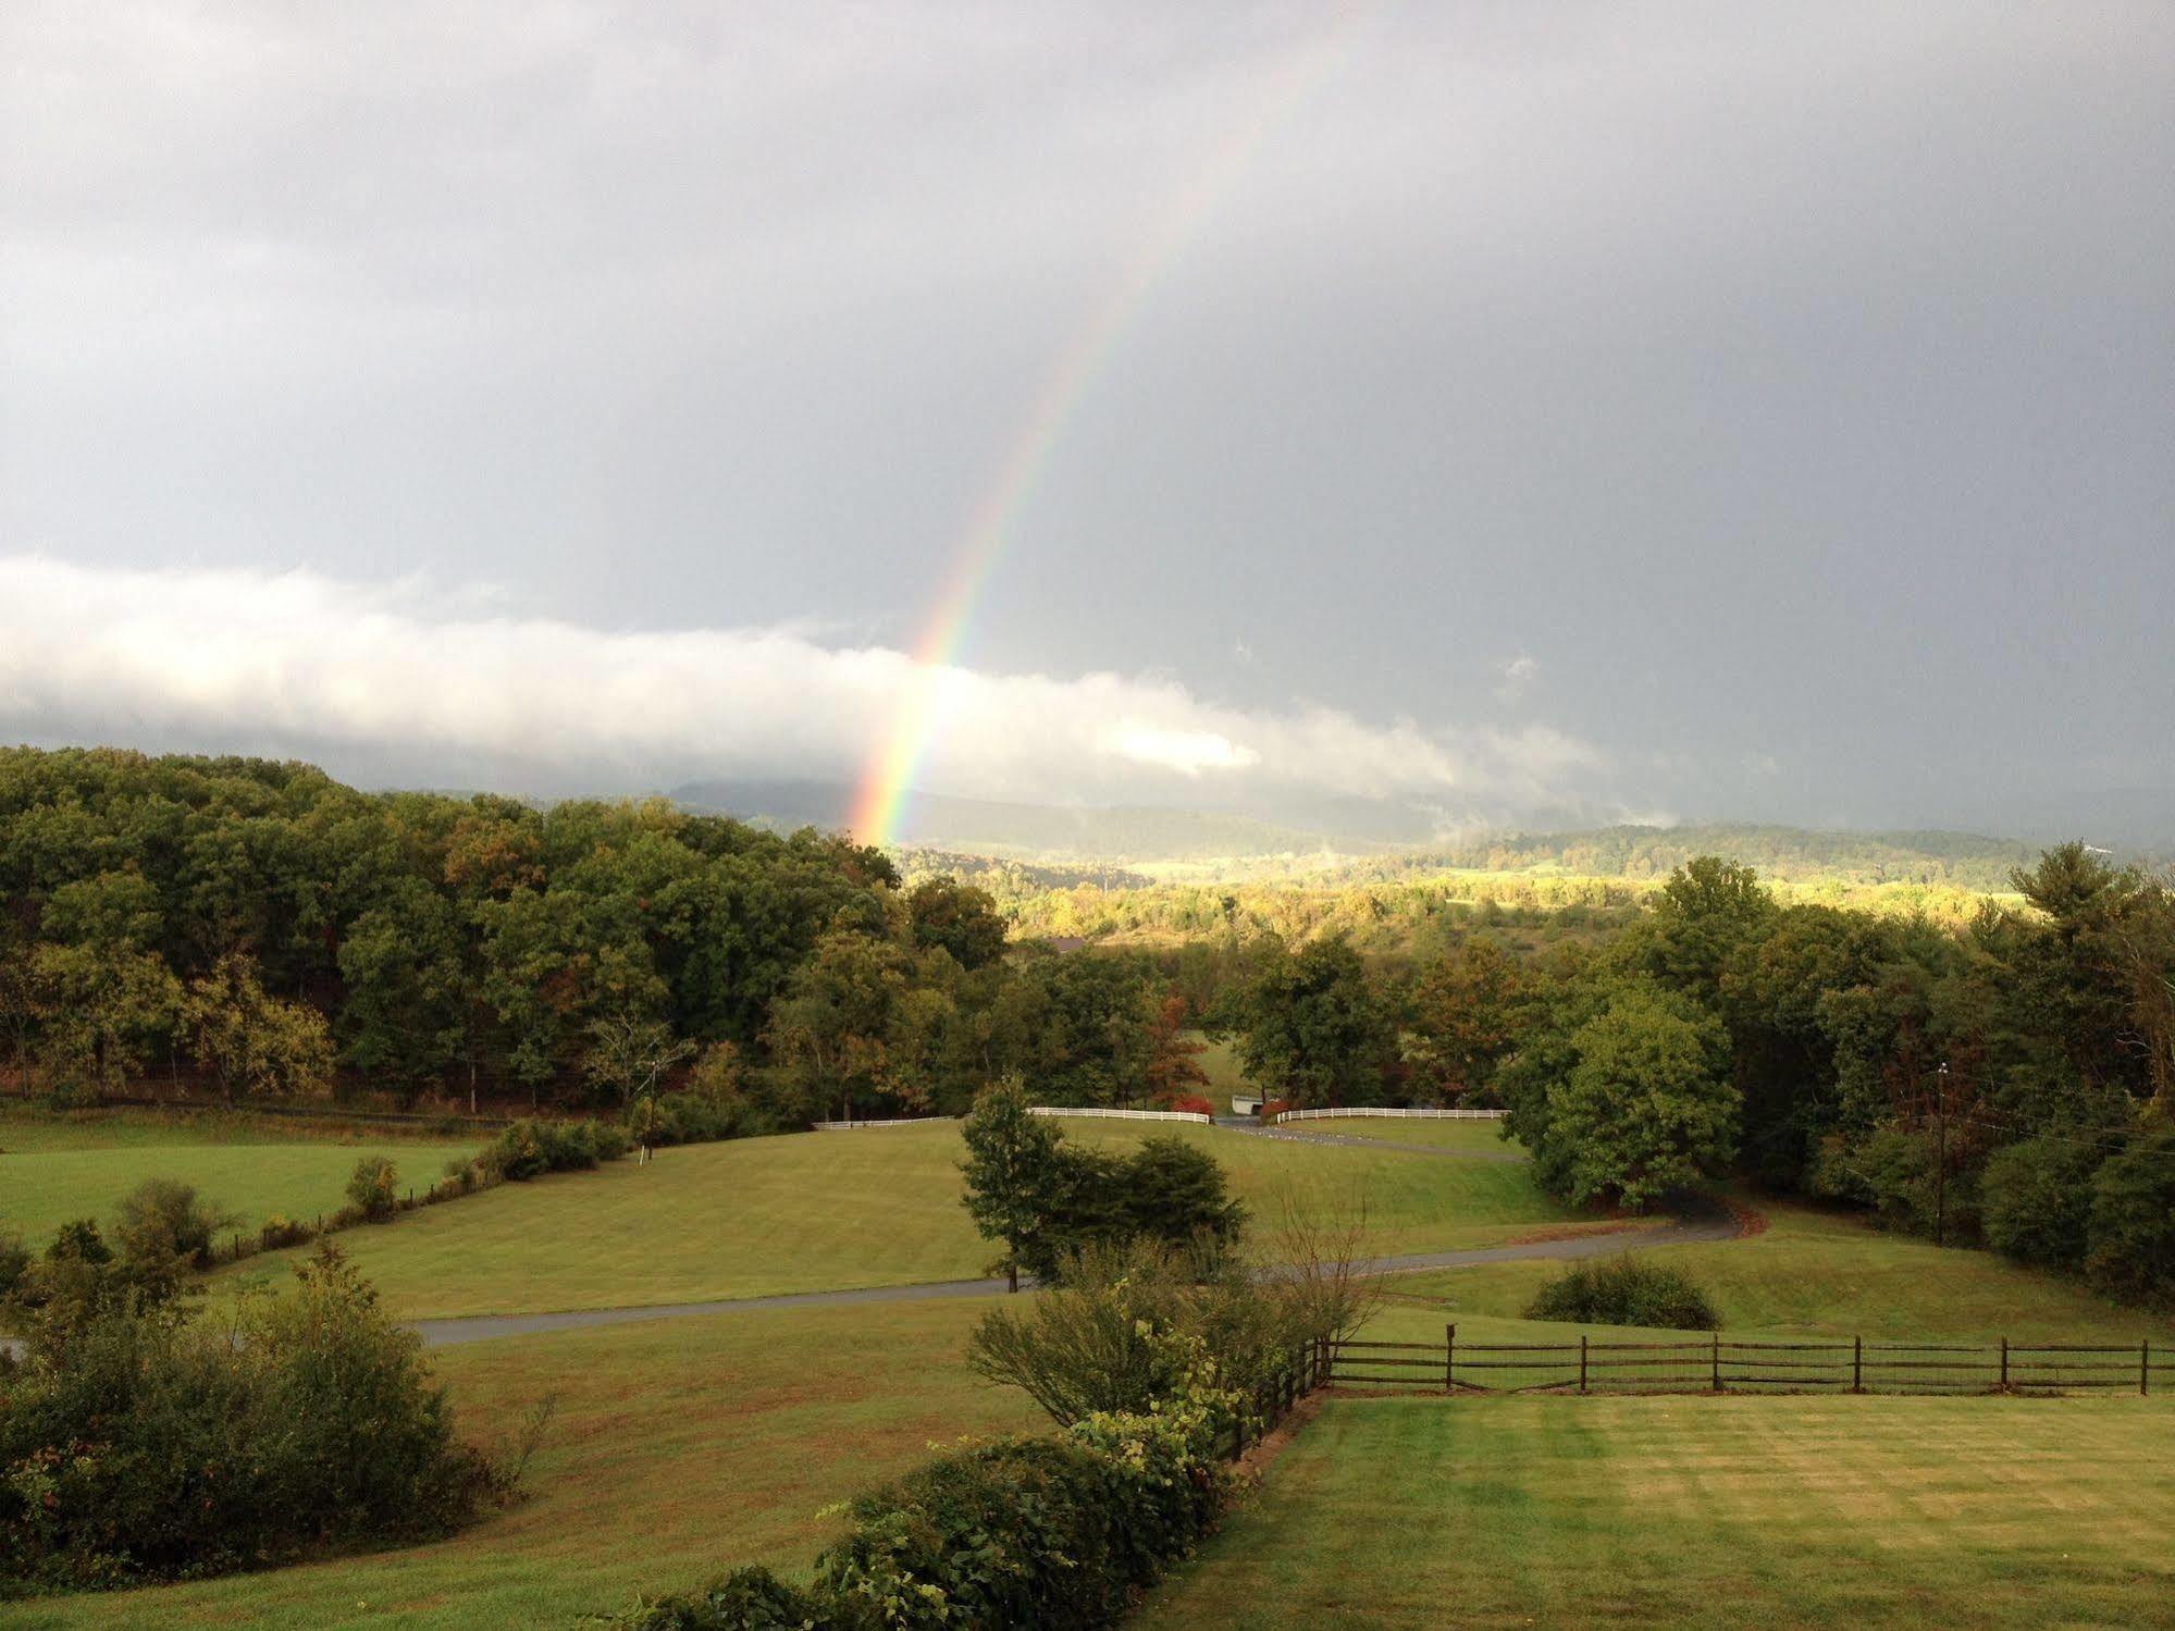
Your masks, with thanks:
[(1072, 1631), (1111, 1624), (1222, 1514), (1229, 1398), (1188, 1390), (1148, 1416), (1090, 1416), (1059, 1437), (940, 1455), (857, 1498), (853, 1529), (794, 1588), (737, 1570), (648, 1603), (642, 1631)]

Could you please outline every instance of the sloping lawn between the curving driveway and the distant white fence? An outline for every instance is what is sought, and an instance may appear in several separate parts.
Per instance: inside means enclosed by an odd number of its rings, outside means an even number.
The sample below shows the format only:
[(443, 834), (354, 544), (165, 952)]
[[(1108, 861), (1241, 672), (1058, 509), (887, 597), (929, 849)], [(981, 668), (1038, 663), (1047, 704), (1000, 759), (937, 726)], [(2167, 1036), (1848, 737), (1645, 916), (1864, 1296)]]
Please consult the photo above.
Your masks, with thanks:
[[(1211, 1150), (1272, 1233), (1281, 1198), (1327, 1211), (1366, 1194), (1375, 1253), (1486, 1246), (1570, 1220), (1525, 1168), (1068, 1120), (1079, 1144), (1177, 1133)], [(948, 1122), (790, 1133), (661, 1150), (359, 1229), (341, 1244), (405, 1318), (542, 1313), (972, 1279), (996, 1248), (959, 1207)], [(244, 1266), (261, 1270), (276, 1259)]]

